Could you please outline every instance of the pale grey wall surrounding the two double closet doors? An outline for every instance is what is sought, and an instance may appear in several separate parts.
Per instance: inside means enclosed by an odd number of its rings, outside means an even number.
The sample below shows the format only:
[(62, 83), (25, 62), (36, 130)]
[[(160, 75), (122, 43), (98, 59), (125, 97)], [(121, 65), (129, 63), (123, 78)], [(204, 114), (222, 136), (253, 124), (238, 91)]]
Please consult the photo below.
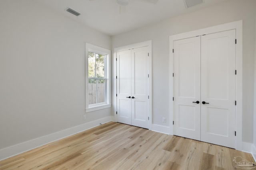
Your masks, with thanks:
[[(169, 126), (169, 36), (243, 20), (243, 129), (242, 140), (252, 143), (254, 99), (255, 0), (231, 0), (112, 37), (115, 47), (152, 40), (153, 124)], [(253, 35), (253, 36), (252, 36)], [(166, 117), (166, 123), (162, 122)]]

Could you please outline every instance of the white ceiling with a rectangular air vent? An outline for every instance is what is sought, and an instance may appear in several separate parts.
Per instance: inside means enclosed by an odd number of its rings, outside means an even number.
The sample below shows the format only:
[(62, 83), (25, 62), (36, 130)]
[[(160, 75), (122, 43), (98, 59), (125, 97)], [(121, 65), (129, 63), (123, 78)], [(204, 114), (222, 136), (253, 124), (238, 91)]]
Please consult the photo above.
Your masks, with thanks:
[[(186, 8), (184, 0), (158, 0), (156, 4), (148, 3), (144, 0), (130, 0), (125, 8), (121, 8), (121, 12), (116, 0), (36, 1), (79, 23), (111, 36), (228, 0), (203, 0), (203, 3), (190, 8)], [(81, 15), (74, 16), (66, 12), (68, 7)]]

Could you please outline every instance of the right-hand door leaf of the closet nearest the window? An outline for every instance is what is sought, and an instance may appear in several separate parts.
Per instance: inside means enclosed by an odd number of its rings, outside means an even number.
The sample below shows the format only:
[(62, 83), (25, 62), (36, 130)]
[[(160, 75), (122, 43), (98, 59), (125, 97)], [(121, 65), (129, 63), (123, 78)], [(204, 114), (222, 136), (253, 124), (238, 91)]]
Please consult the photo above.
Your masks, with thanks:
[(132, 125), (148, 129), (148, 47), (132, 49)]

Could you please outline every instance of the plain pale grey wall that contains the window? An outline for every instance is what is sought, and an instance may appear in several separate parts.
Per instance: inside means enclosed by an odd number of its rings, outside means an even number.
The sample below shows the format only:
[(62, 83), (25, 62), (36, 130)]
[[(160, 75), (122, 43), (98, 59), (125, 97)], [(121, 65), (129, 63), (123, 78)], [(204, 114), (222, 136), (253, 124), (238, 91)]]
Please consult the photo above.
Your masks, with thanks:
[(111, 116), (83, 120), (85, 42), (111, 49), (110, 36), (34, 0), (1, 0), (0, 25), (0, 150)]

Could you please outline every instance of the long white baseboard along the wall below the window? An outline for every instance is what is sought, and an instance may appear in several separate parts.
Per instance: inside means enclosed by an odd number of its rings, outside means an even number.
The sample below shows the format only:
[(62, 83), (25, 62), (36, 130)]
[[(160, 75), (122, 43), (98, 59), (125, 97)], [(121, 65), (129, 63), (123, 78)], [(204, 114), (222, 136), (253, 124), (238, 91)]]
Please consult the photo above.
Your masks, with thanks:
[(39, 137), (39, 138), (36, 138), (36, 139), (32, 139), (30, 141), (26, 141), (24, 143), (19, 143), (17, 145), (13, 145), (11, 147), (1, 149), (0, 150), (0, 160), (10, 158), (12, 156), (15, 156), (17, 154), (26, 152), (28, 150), (46, 145), (48, 143), (51, 143), (51, 142), (54, 142), (54, 141), (57, 141), (57, 140), (60, 140), (60, 139), (63, 139), (65, 137), (74, 135), (76, 133), (85, 131), (87, 129), (91, 129), (93, 127), (96, 127), (96, 126), (100, 125), (100, 123), (103, 124), (103, 123), (107, 123), (107, 122), (110, 122), (110, 121), (113, 121), (113, 120), (114, 120), (114, 116), (104, 117), (102, 119), (98, 119), (98, 120), (95, 120), (95, 121), (84, 123), (82, 125), (78, 125), (78, 126), (75, 126), (75, 127), (71, 127), (69, 129), (65, 129), (63, 131), (52, 133), (52, 134), (49, 134), (49, 135), (46, 135), (46, 136), (42, 136), (42, 137)]

